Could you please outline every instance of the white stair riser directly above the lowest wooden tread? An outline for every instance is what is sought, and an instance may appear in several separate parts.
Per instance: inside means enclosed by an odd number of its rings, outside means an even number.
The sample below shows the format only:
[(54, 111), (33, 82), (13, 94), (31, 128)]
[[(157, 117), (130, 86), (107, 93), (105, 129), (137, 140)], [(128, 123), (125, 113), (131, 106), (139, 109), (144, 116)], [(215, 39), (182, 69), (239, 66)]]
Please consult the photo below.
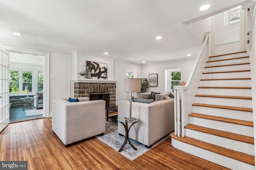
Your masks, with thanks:
[(185, 136), (254, 156), (254, 145), (185, 128)]

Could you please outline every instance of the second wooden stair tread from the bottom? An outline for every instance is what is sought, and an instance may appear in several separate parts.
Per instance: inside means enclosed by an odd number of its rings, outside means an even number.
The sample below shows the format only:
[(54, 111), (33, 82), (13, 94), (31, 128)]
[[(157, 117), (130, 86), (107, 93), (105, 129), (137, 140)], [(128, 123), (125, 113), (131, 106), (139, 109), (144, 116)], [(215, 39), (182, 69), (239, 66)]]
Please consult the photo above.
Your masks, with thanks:
[(208, 134), (212, 134), (212, 135), (216, 135), (216, 136), (219, 136), (219, 137), (225, 137), (225, 138), (228, 138), (228, 139), (233, 139), (233, 140), (244, 142), (244, 143), (250, 143), (250, 144), (254, 145), (254, 138), (253, 137), (248, 137), (248, 136), (239, 135), (239, 134), (236, 134), (236, 133), (220, 131), (220, 130), (211, 129), (211, 128), (208, 128), (208, 127), (197, 126), (197, 125), (192, 125), (192, 124), (188, 124), (184, 128), (192, 129), (192, 130), (195, 130), (195, 131), (200, 131), (200, 132), (208, 133)]

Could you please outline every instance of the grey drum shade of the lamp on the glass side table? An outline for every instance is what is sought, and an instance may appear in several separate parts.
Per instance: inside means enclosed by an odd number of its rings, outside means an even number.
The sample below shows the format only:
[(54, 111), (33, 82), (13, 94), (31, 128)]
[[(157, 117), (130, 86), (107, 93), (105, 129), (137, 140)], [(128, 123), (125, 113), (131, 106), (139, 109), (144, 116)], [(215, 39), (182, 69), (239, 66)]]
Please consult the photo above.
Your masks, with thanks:
[(124, 92), (140, 92), (140, 78), (124, 78)]

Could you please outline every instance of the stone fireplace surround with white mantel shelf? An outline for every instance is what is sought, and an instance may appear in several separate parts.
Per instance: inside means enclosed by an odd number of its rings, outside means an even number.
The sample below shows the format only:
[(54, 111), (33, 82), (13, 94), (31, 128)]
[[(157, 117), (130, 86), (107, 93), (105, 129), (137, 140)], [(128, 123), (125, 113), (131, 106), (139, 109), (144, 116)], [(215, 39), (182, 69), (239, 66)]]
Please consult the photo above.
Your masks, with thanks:
[(79, 97), (90, 98), (90, 93), (91, 94), (109, 93), (109, 106), (116, 106), (117, 80), (77, 78), (77, 79), (74, 79), (73, 81), (74, 81), (74, 97), (75, 98), (79, 98)]

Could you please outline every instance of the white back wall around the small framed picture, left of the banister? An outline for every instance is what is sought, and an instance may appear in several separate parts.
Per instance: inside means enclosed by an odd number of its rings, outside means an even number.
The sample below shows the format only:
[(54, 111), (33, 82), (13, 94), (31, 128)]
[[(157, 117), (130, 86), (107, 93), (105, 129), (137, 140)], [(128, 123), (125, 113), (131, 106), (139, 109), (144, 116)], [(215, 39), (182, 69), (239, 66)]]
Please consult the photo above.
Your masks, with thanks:
[(161, 92), (166, 93), (164, 90), (164, 70), (181, 69), (181, 81), (186, 82), (190, 75), (190, 72), (194, 66), (196, 59), (184, 60), (184, 61), (170, 61), (162, 64), (149, 64), (142, 66), (142, 77), (148, 79), (148, 74), (158, 74), (158, 86), (150, 87), (148, 92)]

